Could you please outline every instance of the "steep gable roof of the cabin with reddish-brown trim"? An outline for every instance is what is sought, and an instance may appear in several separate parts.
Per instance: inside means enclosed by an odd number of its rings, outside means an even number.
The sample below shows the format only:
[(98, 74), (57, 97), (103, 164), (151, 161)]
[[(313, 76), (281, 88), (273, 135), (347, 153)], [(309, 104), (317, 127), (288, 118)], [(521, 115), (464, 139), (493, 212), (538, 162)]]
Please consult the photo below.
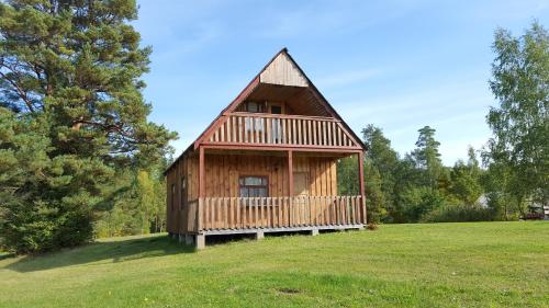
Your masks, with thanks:
[[(284, 82), (281, 83), (276, 76), (282, 76)], [(242, 92), (225, 107), (221, 113), (210, 123), (210, 125), (200, 134), (200, 136), (179, 156), (173, 163), (168, 167), (166, 171), (171, 169), (171, 167), (188, 151), (197, 149), (202, 141), (208, 137), (216, 125), (221, 122), (221, 117), (231, 113), (243, 103), (254, 90), (256, 90), (260, 84), (276, 84), (276, 85), (289, 85), (299, 88), (309, 88), (311, 94), (316, 99), (320, 109), (324, 111), (332, 117), (339, 119), (345, 129), (350, 134), (355, 141), (367, 150), (366, 145), (362, 140), (355, 134), (355, 132), (343, 121), (341, 116), (335, 111), (335, 109), (328, 103), (324, 95), (318, 91), (314, 83), (309, 79), (305, 72), (301, 69), (298, 62), (288, 53), (288, 48), (282, 48), (278, 52), (265, 67), (251, 79), (251, 81), (242, 90)]]

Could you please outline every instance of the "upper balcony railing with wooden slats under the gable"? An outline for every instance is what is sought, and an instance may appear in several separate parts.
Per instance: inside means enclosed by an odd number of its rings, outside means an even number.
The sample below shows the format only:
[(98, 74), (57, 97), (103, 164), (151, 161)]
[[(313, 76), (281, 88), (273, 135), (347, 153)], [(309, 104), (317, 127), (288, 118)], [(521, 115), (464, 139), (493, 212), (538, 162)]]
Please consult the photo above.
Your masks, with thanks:
[(206, 144), (312, 147), (359, 147), (332, 117), (234, 113), (215, 128)]

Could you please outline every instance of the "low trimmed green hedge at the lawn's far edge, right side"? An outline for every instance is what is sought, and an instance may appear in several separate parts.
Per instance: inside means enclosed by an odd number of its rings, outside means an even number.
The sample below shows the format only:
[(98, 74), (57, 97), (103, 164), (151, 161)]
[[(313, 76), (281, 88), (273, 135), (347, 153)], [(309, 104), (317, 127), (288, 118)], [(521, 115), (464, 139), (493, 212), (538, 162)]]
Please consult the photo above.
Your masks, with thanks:
[(424, 223), (490, 221), (493, 213), (490, 208), (477, 205), (446, 205), (422, 217)]

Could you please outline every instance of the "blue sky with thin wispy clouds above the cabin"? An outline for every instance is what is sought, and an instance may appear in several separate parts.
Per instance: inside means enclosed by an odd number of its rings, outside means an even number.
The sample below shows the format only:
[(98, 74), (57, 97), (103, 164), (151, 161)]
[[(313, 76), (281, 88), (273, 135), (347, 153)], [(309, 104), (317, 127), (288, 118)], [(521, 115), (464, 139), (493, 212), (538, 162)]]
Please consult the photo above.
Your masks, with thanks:
[(357, 134), (374, 124), (404, 155), (430, 125), (451, 166), (490, 137), (494, 30), (549, 26), (549, 0), (138, 2), (144, 95), (177, 155), (285, 46)]

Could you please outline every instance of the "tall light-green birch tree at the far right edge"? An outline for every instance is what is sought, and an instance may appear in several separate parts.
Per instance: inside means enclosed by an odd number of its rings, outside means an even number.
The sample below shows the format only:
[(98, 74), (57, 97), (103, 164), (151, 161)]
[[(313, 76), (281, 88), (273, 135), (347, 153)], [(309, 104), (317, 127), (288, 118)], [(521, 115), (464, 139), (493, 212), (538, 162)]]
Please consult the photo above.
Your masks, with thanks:
[(500, 28), (493, 49), (490, 88), (498, 105), (486, 116), (494, 137), (484, 160), (497, 175), (488, 189), (524, 215), (527, 203), (549, 203), (549, 35), (537, 22), (520, 37)]

